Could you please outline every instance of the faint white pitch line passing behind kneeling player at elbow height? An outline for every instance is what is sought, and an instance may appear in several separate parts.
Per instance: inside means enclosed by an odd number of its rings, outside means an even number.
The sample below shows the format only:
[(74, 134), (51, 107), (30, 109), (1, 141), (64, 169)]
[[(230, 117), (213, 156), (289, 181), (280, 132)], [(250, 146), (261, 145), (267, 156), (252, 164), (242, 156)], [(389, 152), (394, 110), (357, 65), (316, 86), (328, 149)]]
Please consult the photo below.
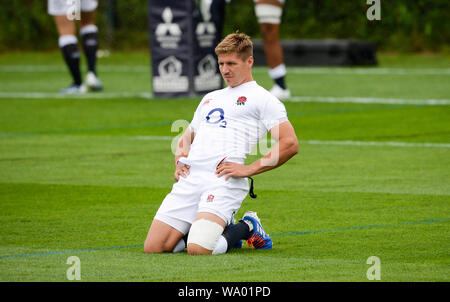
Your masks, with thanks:
[[(132, 139), (149, 141), (170, 141), (175, 136), (132, 136)], [(261, 141), (264, 143), (264, 140)], [(371, 141), (327, 141), (327, 140), (299, 140), (305, 145), (337, 145), (337, 146), (376, 146), (376, 147), (410, 147), (410, 148), (450, 148), (450, 143), (408, 143), (408, 142), (371, 142)], [(272, 141), (271, 144), (274, 144)]]

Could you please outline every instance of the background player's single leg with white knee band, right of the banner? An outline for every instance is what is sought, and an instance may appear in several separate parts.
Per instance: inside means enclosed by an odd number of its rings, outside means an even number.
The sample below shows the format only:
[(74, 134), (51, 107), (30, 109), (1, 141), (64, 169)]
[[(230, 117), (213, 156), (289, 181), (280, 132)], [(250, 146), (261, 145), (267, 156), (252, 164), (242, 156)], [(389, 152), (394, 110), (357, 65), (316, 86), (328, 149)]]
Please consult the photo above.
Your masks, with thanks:
[(269, 65), (269, 76), (275, 81), (270, 93), (278, 99), (286, 99), (291, 92), (286, 86), (286, 66), (280, 42), (280, 23), (284, 0), (254, 0), (255, 15), (264, 42), (264, 54)]

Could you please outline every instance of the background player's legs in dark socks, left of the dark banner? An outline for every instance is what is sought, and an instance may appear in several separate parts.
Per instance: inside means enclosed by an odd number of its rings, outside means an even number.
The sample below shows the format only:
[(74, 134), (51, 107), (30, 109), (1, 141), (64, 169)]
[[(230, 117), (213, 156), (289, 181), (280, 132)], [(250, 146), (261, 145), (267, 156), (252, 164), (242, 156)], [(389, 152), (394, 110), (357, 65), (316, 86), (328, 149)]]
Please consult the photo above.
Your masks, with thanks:
[[(76, 7), (79, 5), (80, 7)], [(100, 91), (103, 85), (97, 77), (96, 62), (98, 50), (98, 28), (94, 24), (97, 0), (48, 0), (48, 13), (54, 17), (58, 28), (58, 45), (69, 68), (73, 83), (61, 90), (65, 94), (85, 93), (80, 71), (80, 52), (76, 36), (76, 13), (79, 12), (80, 37), (84, 54), (86, 56), (88, 72), (86, 85), (91, 91)]]

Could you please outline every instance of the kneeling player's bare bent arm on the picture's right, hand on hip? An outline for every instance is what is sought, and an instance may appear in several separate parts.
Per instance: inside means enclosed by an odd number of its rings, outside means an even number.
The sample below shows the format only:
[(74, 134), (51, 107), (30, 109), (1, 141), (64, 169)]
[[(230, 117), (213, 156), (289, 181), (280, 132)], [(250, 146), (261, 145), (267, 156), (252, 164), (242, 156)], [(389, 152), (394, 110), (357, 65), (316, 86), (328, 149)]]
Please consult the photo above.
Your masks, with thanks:
[(298, 139), (294, 127), (289, 121), (274, 126), (270, 129), (270, 135), (276, 144), (266, 156), (248, 166), (232, 162), (223, 163), (216, 169), (218, 177), (226, 175), (225, 179), (228, 180), (230, 177), (248, 177), (260, 174), (281, 166), (298, 153)]

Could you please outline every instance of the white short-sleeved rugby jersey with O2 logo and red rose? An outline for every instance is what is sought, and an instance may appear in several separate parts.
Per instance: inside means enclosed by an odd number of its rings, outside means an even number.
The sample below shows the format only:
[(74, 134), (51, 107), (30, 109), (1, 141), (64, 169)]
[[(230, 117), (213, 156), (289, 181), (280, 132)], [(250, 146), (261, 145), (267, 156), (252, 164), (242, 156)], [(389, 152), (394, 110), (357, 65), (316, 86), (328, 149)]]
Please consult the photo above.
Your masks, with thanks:
[(189, 125), (195, 138), (187, 160), (219, 163), (226, 157), (243, 164), (258, 141), (287, 120), (283, 103), (255, 81), (210, 92)]

